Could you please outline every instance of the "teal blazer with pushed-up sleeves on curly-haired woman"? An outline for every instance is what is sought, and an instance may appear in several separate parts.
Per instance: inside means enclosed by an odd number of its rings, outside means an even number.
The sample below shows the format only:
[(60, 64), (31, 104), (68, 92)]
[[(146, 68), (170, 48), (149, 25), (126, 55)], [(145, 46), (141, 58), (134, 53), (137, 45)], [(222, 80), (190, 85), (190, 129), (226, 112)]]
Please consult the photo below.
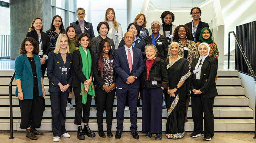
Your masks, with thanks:
[[(40, 58), (38, 55), (33, 54), (36, 66), (36, 77), (38, 82), (38, 95), (42, 96), (42, 85), (41, 85), (41, 77), (42, 70), (41, 70), (41, 63)], [(15, 79), (21, 80), (21, 89), (23, 92), (24, 99), (33, 99), (33, 86), (34, 86), (34, 79), (32, 73), (32, 67), (28, 61), (28, 57), (26, 54), (22, 54), (15, 59)], [(15, 96), (18, 96), (18, 87), (16, 87)]]

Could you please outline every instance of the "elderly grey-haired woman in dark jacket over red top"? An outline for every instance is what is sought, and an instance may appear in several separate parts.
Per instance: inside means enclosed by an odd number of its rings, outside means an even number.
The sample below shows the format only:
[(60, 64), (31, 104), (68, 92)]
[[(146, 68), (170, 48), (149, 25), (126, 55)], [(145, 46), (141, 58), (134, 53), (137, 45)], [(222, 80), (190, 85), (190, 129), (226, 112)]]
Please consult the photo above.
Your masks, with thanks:
[(157, 48), (153, 44), (145, 46), (146, 65), (140, 76), (142, 100), (142, 132), (146, 138), (156, 133), (155, 139), (162, 138), (162, 101), (163, 90), (168, 89), (168, 74), (165, 61), (156, 57)]

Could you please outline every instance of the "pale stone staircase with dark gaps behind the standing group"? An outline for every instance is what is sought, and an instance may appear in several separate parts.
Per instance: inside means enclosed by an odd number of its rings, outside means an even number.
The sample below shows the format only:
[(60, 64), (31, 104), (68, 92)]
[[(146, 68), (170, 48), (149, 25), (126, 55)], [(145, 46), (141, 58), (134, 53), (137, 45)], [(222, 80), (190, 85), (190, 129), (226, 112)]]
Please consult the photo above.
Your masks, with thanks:
[[(9, 115), (9, 81), (14, 70), (0, 71), (0, 131), (10, 130)], [(51, 131), (51, 107), (48, 92), (48, 78), (44, 79), (45, 85), (45, 111), (43, 114), (41, 128), (38, 130)], [(244, 88), (241, 87), (241, 79), (238, 78), (236, 70), (218, 70), (217, 90), (219, 96), (214, 100), (214, 131), (254, 131), (253, 110), (249, 107), (249, 99), (244, 96)], [(13, 81), (12, 93), (15, 93), (16, 81)], [(75, 99), (72, 99), (75, 105)], [(190, 103), (191, 105), (191, 103)], [(138, 131), (141, 131), (141, 107), (138, 111)], [(124, 131), (130, 130), (129, 111), (124, 113)], [(66, 129), (68, 131), (76, 131), (74, 124), (75, 109), (66, 112)], [(13, 95), (13, 130), (22, 131), (20, 129), (20, 108), (18, 98)], [(104, 112), (105, 117), (105, 112)], [(162, 131), (165, 131), (167, 116), (166, 109), (163, 109)], [(106, 120), (103, 119), (103, 127), (106, 130)], [(96, 107), (95, 101), (92, 99), (89, 125), (91, 130), (97, 131)], [(113, 107), (113, 124), (112, 130), (116, 130), (116, 99)], [(185, 123), (185, 131), (193, 131), (193, 120), (191, 115), (191, 106), (188, 108), (188, 122)]]

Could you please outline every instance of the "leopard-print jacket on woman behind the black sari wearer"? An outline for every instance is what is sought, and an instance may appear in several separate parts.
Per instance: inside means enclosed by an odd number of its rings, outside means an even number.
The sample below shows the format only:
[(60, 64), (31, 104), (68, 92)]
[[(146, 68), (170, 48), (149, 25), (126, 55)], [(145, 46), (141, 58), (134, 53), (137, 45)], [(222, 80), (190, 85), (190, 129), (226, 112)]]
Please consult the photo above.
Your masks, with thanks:
[[(171, 41), (173, 42), (173, 41)], [(171, 42), (170, 42), (170, 46), (171, 46)], [(184, 45), (183, 45), (183, 42), (181, 40), (178, 41), (179, 43), (179, 47), (180, 47), (180, 50), (178, 52), (179, 56), (181, 57), (184, 57)], [(192, 60), (194, 58), (198, 58), (199, 57), (199, 54), (198, 54), (198, 50), (196, 48), (196, 45), (195, 45), (195, 42), (192, 41), (192, 40), (187, 40), (187, 45), (188, 45), (188, 58), (187, 58), (187, 61), (188, 61), (188, 67), (189, 69), (191, 68), (191, 64), (192, 64)], [(169, 48), (170, 48), (169, 46)], [(171, 51), (168, 50), (168, 54), (167, 54), (167, 58), (169, 58), (171, 56)]]

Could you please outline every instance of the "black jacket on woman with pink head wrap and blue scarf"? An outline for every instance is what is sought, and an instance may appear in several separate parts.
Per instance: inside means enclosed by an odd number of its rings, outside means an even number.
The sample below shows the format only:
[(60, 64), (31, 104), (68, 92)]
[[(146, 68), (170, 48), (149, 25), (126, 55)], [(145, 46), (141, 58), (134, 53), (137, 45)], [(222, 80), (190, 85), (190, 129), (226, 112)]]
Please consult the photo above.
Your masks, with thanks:
[[(152, 43), (151, 35), (145, 38), (146, 44)], [(158, 42), (162, 42), (162, 45), (158, 45)], [(168, 54), (168, 41), (165, 36), (160, 35), (158, 39), (155, 41), (155, 46), (158, 50), (157, 56), (161, 58), (162, 60), (165, 60), (167, 58)]]

